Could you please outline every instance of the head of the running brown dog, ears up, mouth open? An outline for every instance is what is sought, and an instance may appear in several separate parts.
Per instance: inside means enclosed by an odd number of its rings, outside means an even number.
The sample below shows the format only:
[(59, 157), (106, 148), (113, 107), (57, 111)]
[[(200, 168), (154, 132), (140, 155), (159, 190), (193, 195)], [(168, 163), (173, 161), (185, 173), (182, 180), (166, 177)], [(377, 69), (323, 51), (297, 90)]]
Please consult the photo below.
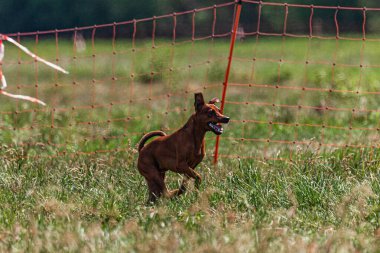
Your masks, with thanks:
[(230, 121), (230, 118), (223, 115), (215, 105), (218, 102), (218, 98), (213, 98), (206, 104), (202, 93), (195, 93), (194, 107), (197, 121), (204, 126), (206, 131), (212, 131), (216, 135), (223, 133), (221, 124), (226, 124)]

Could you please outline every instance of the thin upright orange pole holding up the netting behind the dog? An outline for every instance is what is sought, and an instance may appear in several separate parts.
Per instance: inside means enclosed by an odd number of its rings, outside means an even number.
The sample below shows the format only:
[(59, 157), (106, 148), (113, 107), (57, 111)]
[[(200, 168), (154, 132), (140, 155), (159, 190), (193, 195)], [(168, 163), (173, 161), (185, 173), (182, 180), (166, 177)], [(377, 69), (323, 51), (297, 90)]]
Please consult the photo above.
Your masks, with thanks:
[[(227, 86), (228, 86), (228, 78), (230, 76), (231, 62), (232, 62), (232, 56), (233, 56), (233, 53), (234, 53), (234, 46), (235, 46), (235, 41), (236, 41), (236, 35), (237, 35), (238, 27), (239, 27), (239, 19), (240, 19), (241, 7), (242, 7), (242, 0), (238, 0), (236, 2), (235, 20), (234, 20), (234, 26), (232, 28), (232, 33), (231, 33), (230, 53), (229, 53), (229, 56), (228, 56), (228, 64), (227, 64), (227, 69), (226, 69), (226, 73), (224, 75), (224, 82), (223, 82), (222, 104), (221, 104), (221, 107), (220, 107), (220, 111), (222, 113), (223, 113), (225, 99), (226, 99)], [(216, 137), (216, 143), (215, 143), (214, 164), (216, 164), (218, 162), (219, 142), (220, 142), (220, 136), (218, 135)]]

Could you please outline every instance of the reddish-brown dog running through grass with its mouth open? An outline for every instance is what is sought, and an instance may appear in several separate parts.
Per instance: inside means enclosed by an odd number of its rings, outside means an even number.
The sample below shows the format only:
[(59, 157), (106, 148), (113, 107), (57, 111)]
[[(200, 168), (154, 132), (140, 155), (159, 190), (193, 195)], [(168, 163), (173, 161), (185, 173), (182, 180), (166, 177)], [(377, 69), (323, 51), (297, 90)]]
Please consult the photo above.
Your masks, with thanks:
[[(208, 104), (203, 100), (202, 93), (195, 94), (195, 113), (187, 123), (171, 135), (162, 131), (154, 131), (144, 135), (139, 143), (139, 158), (137, 167), (147, 181), (149, 188), (148, 202), (157, 198), (179, 196), (186, 191), (189, 178), (195, 179), (199, 188), (201, 176), (194, 168), (205, 156), (204, 138), (206, 132), (212, 131), (217, 135), (223, 133), (220, 123), (228, 123), (230, 118), (220, 113), (214, 98)], [(144, 146), (153, 136), (160, 136)], [(165, 172), (171, 170), (185, 175), (179, 189), (168, 191), (165, 185)]]

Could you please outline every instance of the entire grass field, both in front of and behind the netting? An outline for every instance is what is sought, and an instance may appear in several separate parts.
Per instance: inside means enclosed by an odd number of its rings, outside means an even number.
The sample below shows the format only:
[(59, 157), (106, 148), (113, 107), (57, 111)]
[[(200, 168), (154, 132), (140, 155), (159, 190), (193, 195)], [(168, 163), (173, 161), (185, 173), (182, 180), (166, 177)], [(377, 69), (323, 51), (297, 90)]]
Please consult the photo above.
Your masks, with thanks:
[[(380, 154), (354, 148), (379, 145), (375, 42), (239, 41), (225, 111), (234, 121), (221, 154), (255, 159), (223, 158), (214, 166), (214, 136), (208, 134), (200, 191), (147, 206), (136, 169), (138, 139), (184, 124), (195, 91), (220, 96), (229, 46), (227, 40), (174, 46), (158, 40), (155, 49), (150, 43), (139, 41), (133, 52), (130, 41), (117, 40), (113, 48), (99, 39), (94, 49), (88, 43), (75, 53), (62, 40), (59, 63), (69, 76), (36, 68), (7, 47), (9, 91), (38, 95), (48, 106), (1, 98), (1, 252), (379, 251)], [(57, 57), (51, 40), (25, 44)], [(249, 83), (319, 90), (239, 86)], [(352, 147), (318, 149), (321, 142)], [(179, 182), (169, 173), (170, 188)]]

